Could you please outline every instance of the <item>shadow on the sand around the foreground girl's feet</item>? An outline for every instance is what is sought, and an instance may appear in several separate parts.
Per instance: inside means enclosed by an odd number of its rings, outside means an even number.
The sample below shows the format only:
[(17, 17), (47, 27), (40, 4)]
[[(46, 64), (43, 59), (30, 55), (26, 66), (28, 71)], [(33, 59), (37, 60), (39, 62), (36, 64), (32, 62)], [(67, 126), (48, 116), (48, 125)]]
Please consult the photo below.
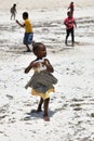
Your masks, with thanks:
[[(52, 117), (56, 112), (55, 111), (49, 111), (49, 116)], [(24, 117), (24, 120), (31, 120), (31, 119), (39, 119), (43, 118), (43, 112), (32, 112), (26, 113), (27, 116)]]

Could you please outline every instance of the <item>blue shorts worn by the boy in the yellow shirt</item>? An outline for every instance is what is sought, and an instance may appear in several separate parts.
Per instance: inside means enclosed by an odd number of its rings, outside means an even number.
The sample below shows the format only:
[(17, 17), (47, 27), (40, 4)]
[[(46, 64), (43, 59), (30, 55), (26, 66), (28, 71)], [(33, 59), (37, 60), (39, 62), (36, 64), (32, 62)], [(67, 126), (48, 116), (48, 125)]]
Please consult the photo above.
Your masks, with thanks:
[(33, 38), (33, 33), (25, 33), (23, 43), (24, 44), (31, 44), (32, 38)]

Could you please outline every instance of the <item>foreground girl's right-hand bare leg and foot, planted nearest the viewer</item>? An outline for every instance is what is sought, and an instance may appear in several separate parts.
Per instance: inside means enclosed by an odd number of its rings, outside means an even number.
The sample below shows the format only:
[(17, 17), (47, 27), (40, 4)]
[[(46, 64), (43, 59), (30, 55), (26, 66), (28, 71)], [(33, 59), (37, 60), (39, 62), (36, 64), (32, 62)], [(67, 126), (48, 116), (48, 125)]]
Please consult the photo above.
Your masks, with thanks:
[(49, 102), (50, 102), (50, 98), (44, 100), (44, 115), (43, 115), (43, 118), (44, 118), (45, 121), (50, 121), (50, 117), (48, 115)]

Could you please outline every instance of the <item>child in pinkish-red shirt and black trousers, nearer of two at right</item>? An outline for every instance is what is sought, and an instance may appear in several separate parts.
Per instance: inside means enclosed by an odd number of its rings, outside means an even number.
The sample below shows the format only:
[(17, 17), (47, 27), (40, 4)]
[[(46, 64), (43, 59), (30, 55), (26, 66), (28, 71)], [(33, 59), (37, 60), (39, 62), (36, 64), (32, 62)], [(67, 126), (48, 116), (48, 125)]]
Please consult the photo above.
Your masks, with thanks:
[(67, 12), (68, 17), (65, 18), (64, 24), (66, 26), (66, 39), (65, 39), (65, 44), (67, 46), (67, 39), (69, 35), (71, 34), (71, 43), (72, 46), (75, 44), (75, 27), (77, 27), (76, 21), (71, 15), (71, 12)]

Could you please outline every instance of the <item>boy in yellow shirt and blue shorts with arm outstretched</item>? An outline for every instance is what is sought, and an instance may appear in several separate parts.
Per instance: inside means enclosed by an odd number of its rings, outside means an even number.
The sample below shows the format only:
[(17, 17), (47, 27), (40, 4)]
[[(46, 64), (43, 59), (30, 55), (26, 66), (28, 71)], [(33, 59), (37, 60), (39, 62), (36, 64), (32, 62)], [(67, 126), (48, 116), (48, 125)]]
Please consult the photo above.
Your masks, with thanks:
[(16, 23), (21, 27), (25, 27), (25, 35), (24, 35), (23, 42), (27, 48), (27, 52), (30, 52), (29, 44), (32, 43), (33, 30), (32, 30), (32, 25), (31, 25), (30, 21), (28, 20), (28, 13), (27, 12), (23, 13), (23, 20), (25, 21), (23, 24), (21, 24), (17, 20), (16, 20)]

